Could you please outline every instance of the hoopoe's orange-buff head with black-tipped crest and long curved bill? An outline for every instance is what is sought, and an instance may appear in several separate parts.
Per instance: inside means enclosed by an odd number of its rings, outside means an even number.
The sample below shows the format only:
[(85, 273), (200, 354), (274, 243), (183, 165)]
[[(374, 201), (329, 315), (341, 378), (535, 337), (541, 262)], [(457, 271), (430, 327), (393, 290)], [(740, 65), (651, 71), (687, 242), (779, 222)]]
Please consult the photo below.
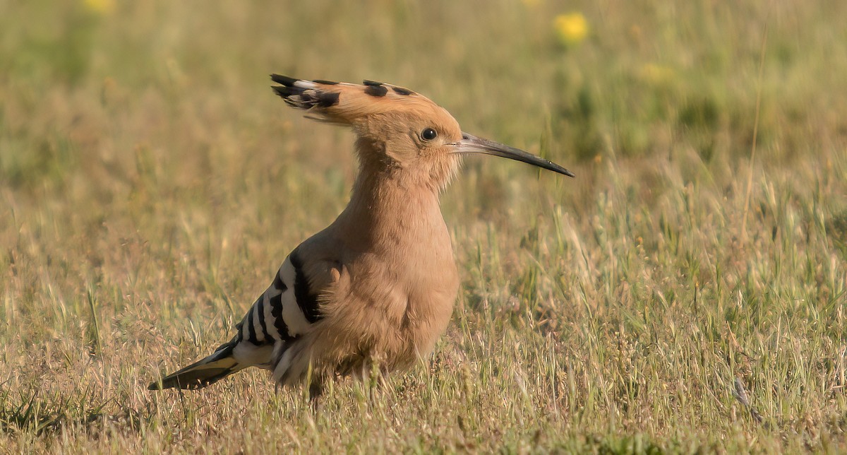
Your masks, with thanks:
[(511, 158), (562, 175), (573, 174), (544, 158), (462, 132), (456, 119), (429, 98), (371, 80), (362, 85), (271, 75), (274, 91), (306, 117), (350, 125), (357, 134), (363, 171), (402, 175), (443, 188), (465, 153)]

